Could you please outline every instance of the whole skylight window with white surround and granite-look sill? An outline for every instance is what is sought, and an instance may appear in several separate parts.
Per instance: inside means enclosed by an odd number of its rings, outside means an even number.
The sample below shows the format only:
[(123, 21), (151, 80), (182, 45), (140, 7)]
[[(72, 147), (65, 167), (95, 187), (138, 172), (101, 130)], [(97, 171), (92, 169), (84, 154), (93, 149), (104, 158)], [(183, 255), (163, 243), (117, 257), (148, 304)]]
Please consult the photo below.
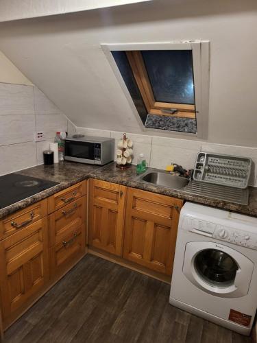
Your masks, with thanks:
[(208, 43), (103, 47), (144, 130), (207, 135)]

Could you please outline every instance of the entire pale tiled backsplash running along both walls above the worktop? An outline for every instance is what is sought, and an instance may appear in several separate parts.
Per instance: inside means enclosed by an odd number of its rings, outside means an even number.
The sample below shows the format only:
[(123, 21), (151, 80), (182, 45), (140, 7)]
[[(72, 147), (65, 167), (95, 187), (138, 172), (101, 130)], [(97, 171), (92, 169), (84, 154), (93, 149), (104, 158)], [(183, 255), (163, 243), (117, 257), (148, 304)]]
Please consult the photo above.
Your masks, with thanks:
[[(34, 132), (42, 130), (45, 141), (35, 142)], [(98, 137), (112, 137), (117, 141), (123, 132), (75, 128), (62, 111), (36, 86), (0, 83), (0, 175), (42, 163), (42, 151), (49, 148), (56, 131), (68, 131)], [(134, 159), (143, 152), (150, 167), (165, 169), (178, 163), (186, 169), (193, 168), (199, 151), (217, 152), (252, 158), (254, 173), (251, 185), (257, 187), (257, 147), (221, 145), (188, 139), (151, 137), (132, 134)]]

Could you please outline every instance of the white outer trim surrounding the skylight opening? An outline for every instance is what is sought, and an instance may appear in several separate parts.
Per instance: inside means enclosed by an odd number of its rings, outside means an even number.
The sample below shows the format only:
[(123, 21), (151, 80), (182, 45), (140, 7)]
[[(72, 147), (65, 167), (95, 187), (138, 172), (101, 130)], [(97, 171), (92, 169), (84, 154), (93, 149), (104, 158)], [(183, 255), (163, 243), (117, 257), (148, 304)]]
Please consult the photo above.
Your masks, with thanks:
[[(209, 109), (209, 83), (210, 83), (210, 42), (208, 40), (186, 40), (180, 42), (164, 42), (164, 43), (110, 43), (101, 44), (104, 54), (108, 58), (108, 61), (116, 75), (125, 96), (133, 110), (134, 115), (138, 119), (140, 128), (143, 131), (156, 131), (167, 132), (170, 136), (190, 136), (199, 139), (208, 138), (208, 109)], [(194, 75), (194, 90), (195, 90), (195, 114), (197, 119), (197, 132), (178, 132), (178, 131), (166, 131), (156, 128), (145, 128), (142, 120), (136, 110), (136, 106), (132, 100), (130, 92), (127, 90), (127, 86), (121, 76), (119, 68), (112, 56), (111, 51), (143, 51), (143, 50), (191, 50), (193, 56), (193, 75)], [(164, 104), (164, 103), (162, 103)], [(158, 107), (158, 102), (155, 105)], [(176, 104), (177, 106), (179, 104)], [(170, 104), (168, 104), (170, 108)], [(184, 106), (184, 105), (182, 105)], [(191, 105), (188, 105), (191, 106)], [(156, 108), (158, 109), (158, 108)], [(184, 108), (183, 108), (184, 109)], [(192, 107), (188, 108), (187, 113), (191, 113)], [(178, 117), (182, 117), (184, 110), (178, 106)], [(181, 115), (182, 113), (182, 115)], [(152, 113), (154, 114), (154, 113)], [(167, 115), (167, 113), (162, 113)], [(174, 117), (174, 115), (173, 115)]]

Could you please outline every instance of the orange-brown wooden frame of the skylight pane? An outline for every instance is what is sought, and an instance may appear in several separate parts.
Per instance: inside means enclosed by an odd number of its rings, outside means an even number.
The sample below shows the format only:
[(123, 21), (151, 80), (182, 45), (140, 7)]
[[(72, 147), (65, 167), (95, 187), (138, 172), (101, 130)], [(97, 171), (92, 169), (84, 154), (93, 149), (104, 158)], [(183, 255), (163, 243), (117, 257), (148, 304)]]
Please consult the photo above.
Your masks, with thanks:
[[(125, 51), (125, 54), (130, 63), (132, 73), (134, 74), (136, 84), (142, 95), (147, 112), (150, 115), (168, 115), (171, 117), (195, 119), (195, 105), (156, 102), (141, 51)], [(171, 109), (175, 109), (177, 112), (173, 114), (169, 113), (169, 110)]]

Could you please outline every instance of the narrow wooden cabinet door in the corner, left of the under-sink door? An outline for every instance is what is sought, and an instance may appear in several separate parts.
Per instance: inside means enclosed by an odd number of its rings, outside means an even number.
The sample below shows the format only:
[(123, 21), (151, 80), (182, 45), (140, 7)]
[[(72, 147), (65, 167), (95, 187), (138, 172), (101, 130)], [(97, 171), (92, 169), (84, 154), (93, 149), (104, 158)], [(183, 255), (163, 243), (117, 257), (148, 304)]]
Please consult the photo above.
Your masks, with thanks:
[(121, 256), (126, 187), (90, 180), (88, 243)]

